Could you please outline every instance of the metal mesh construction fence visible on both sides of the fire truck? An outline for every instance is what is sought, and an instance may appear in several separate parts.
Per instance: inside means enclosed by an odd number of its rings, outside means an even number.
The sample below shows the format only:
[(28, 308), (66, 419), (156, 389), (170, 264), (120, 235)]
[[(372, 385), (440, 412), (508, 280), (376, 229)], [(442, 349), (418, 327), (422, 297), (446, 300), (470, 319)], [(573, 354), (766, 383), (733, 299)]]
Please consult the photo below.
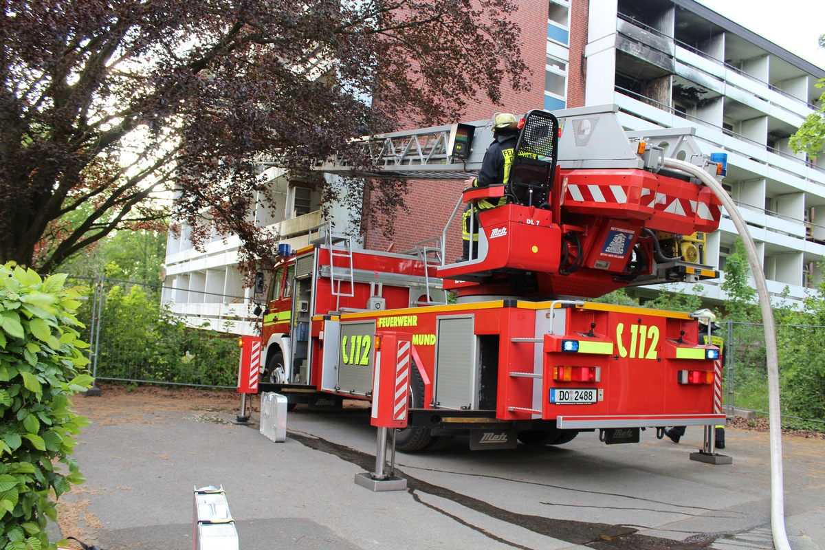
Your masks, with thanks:
[[(106, 278), (70, 278), (86, 299), (79, 312), (98, 380), (234, 388), (239, 322), (212, 322), (221, 330), (191, 327), (160, 285)], [(167, 291), (167, 292), (164, 292)], [(193, 291), (187, 291), (194, 294)], [(243, 297), (192, 296), (197, 303), (238, 303)], [(166, 303), (164, 303), (166, 302)], [(191, 304), (190, 304), (191, 305)], [(177, 309), (177, 313), (176, 313)], [(777, 326), (780, 393), (786, 423), (825, 430), (825, 327)], [(766, 413), (768, 375), (763, 329), (722, 322), (724, 407)]]

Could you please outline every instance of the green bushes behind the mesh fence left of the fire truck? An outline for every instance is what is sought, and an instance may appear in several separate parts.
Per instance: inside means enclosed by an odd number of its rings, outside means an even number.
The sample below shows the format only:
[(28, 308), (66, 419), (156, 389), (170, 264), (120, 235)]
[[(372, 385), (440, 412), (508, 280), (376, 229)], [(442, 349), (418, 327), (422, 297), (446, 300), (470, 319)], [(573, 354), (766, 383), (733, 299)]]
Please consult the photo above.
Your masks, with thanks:
[(186, 327), (139, 284), (116, 285), (101, 313), (97, 376), (159, 383), (233, 386), (238, 343), (232, 335)]

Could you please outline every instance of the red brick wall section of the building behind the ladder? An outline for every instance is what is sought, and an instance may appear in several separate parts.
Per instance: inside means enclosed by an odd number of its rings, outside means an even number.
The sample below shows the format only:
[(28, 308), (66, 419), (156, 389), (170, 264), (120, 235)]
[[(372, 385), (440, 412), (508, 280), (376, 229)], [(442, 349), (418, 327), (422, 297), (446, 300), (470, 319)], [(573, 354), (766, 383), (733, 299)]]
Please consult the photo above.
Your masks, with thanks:
[[(519, 10), (513, 20), (521, 27), (521, 56), (532, 70), (532, 74), (529, 75), (530, 90), (516, 92), (512, 90), (509, 82), (502, 82), (502, 105), (494, 105), (487, 96), (480, 96), (478, 102), (470, 103), (462, 117), (464, 121), (488, 119), (497, 111), (512, 112), (518, 117), (530, 109), (541, 109), (544, 106), (547, 4), (529, 0), (518, 0), (517, 3)], [(469, 63), (472, 63), (471, 59)], [(477, 144), (478, 147), (484, 148), (487, 145)], [(388, 223), (386, 219), (380, 223), (367, 223), (366, 247), (385, 251), (392, 245), (394, 251), (403, 251), (412, 248), (415, 242), (430, 237), (441, 237), (450, 212), (455, 208), (463, 189), (464, 181), (413, 181), (410, 192), (405, 197), (409, 213), (399, 211), (394, 216), (394, 236), (387, 238), (381, 234), (382, 226)], [(454, 261), (461, 255), (460, 215), (457, 218), (459, 220), (452, 223), (447, 238), (447, 261)]]

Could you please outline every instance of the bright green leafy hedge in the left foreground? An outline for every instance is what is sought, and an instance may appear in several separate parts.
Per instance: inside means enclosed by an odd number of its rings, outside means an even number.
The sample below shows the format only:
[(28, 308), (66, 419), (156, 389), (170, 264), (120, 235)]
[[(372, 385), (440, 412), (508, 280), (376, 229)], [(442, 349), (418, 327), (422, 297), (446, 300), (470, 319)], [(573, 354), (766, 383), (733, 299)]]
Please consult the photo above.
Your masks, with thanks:
[(66, 275), (45, 280), (0, 267), (0, 540), (4, 550), (54, 549), (55, 503), (84, 478), (71, 454), (87, 420), (69, 397), (92, 385), (78, 339), (77, 293)]

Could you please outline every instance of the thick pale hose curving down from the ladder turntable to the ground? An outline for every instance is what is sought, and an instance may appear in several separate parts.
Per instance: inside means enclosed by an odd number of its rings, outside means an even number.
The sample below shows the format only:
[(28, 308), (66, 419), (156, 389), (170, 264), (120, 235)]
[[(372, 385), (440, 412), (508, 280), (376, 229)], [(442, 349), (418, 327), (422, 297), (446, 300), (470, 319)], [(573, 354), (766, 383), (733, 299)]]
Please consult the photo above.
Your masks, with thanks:
[(676, 168), (682, 172), (695, 176), (702, 183), (714, 192), (714, 195), (722, 201), (724, 209), (728, 212), (733, 225), (736, 226), (739, 237), (747, 252), (747, 260), (751, 265), (753, 280), (757, 286), (757, 296), (762, 312), (762, 323), (765, 327), (765, 350), (768, 367), (768, 425), (771, 433), (771, 534), (776, 550), (791, 550), (788, 543), (788, 534), (785, 531), (785, 494), (782, 481), (782, 420), (780, 411), (779, 396), (779, 355), (776, 352), (776, 329), (774, 327), (773, 309), (771, 308), (771, 295), (768, 294), (768, 286), (765, 274), (757, 253), (757, 245), (753, 242), (751, 233), (747, 230), (747, 224), (742, 219), (742, 214), (733, 204), (733, 199), (722, 187), (719, 181), (690, 162), (676, 160), (675, 158), (664, 158), (663, 164), (669, 168)]

